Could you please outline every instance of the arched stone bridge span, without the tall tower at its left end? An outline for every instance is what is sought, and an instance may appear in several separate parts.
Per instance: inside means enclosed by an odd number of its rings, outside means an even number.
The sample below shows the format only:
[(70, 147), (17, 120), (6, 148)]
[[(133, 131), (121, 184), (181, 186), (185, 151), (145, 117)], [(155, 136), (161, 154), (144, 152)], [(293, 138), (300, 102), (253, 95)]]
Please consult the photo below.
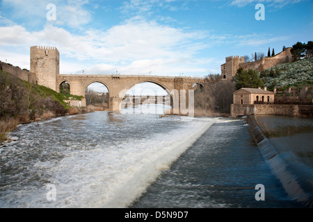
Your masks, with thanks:
[[(77, 96), (85, 96), (88, 85), (102, 83), (109, 90), (109, 109), (112, 111), (121, 110), (121, 102), (129, 89), (139, 83), (155, 83), (162, 87), (171, 97), (171, 105), (177, 101), (180, 107), (181, 102), (188, 106), (189, 89), (195, 89), (195, 85), (202, 87), (205, 84), (204, 78), (174, 77), (174, 76), (134, 76), (134, 75), (65, 75), (59, 74), (56, 78), (56, 91), (60, 92), (62, 83), (70, 85), (70, 93)], [(86, 100), (83, 99), (83, 106)]]

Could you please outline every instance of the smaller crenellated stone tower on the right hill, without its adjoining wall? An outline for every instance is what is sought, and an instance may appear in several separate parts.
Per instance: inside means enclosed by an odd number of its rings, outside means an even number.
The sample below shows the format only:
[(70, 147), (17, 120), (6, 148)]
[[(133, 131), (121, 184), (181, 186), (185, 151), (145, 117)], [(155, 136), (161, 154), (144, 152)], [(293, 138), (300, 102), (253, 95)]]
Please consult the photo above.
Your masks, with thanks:
[(236, 75), (239, 65), (244, 62), (243, 56), (229, 56), (225, 58), (225, 63), (220, 65), (222, 77), (228, 80)]

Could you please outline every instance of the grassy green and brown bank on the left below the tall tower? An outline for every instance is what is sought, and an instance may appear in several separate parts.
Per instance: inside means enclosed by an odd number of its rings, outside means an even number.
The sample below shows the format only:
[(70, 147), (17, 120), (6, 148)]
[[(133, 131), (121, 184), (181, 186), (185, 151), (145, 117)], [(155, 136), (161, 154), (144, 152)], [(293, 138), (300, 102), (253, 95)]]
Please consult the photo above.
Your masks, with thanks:
[(81, 99), (28, 83), (0, 70), (0, 144), (6, 139), (6, 133), (20, 123), (72, 113), (73, 108), (63, 101), (69, 97)]

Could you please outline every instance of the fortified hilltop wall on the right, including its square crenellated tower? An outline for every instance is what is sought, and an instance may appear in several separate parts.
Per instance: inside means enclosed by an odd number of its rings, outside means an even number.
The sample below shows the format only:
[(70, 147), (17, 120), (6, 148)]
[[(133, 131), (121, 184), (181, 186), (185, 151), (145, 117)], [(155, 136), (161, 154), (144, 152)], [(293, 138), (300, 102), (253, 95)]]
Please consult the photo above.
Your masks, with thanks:
[(291, 49), (291, 47), (286, 48), (284, 51), (278, 53), (273, 57), (264, 57), (255, 62), (244, 62), (242, 56), (229, 56), (225, 58), (225, 63), (223, 65), (220, 65), (220, 71), (223, 78), (228, 80), (232, 80), (239, 68), (243, 68), (246, 70), (255, 69), (257, 71), (263, 71), (278, 64), (291, 62)]

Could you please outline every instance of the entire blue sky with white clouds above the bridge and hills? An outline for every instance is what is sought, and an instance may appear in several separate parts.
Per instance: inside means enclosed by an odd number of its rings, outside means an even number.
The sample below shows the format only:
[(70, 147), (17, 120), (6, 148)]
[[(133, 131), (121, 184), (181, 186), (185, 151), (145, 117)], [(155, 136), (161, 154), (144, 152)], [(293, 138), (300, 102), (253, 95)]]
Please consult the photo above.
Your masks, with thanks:
[(30, 69), (31, 46), (56, 46), (61, 74), (204, 77), (310, 40), (312, 0), (0, 1), (0, 60)]

